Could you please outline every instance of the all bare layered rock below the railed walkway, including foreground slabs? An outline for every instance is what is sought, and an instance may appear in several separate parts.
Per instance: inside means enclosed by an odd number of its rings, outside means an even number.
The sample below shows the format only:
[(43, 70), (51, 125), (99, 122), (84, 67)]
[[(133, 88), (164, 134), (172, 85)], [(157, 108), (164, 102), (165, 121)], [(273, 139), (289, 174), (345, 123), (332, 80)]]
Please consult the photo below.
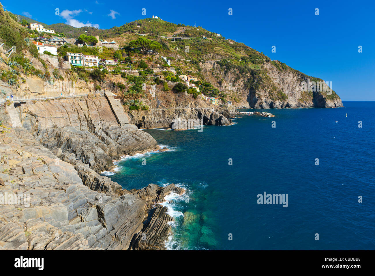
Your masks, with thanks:
[(184, 190), (127, 191), (98, 174), (159, 148), (111, 100), (24, 103), (23, 127), (0, 127), (1, 249), (165, 249), (172, 218), (157, 204)]

